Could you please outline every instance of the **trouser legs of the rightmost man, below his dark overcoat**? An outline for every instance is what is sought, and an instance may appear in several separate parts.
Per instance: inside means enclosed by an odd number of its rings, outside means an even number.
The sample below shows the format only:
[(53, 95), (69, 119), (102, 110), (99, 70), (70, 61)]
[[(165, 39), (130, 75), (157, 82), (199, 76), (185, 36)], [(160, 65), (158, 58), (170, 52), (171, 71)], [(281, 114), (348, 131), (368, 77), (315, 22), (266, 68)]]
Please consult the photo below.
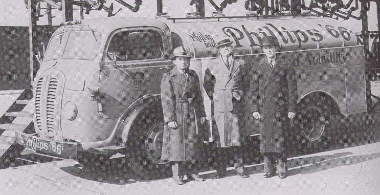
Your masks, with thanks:
[(264, 172), (276, 173), (287, 171), (286, 153), (264, 153)]

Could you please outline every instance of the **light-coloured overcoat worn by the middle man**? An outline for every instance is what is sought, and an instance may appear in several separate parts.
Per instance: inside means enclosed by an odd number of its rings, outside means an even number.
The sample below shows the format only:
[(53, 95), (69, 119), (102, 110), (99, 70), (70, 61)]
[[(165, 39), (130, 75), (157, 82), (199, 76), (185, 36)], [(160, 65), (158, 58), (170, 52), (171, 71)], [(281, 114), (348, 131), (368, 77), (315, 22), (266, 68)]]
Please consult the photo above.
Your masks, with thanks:
[(245, 142), (242, 96), (244, 60), (233, 59), (230, 70), (219, 56), (206, 69), (203, 86), (212, 100), (214, 146), (240, 146)]

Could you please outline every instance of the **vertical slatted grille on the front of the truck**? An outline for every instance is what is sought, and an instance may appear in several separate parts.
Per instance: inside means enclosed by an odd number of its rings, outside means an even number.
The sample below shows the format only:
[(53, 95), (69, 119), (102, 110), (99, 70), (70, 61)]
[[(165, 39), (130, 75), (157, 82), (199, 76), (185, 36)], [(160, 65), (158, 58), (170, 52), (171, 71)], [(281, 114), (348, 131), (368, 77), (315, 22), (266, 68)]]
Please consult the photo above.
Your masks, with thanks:
[(51, 76), (39, 78), (35, 93), (36, 127), (45, 136), (54, 137), (58, 128), (56, 101), (58, 97), (58, 80)]

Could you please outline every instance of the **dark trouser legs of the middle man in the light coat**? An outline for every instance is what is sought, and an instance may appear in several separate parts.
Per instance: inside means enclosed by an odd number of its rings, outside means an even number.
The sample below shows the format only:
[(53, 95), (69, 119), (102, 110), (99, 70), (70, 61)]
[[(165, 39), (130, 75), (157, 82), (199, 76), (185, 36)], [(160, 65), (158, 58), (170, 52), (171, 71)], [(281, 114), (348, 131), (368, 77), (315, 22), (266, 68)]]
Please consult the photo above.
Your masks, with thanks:
[(241, 155), (240, 146), (230, 146), (230, 147), (216, 147), (215, 148), (215, 166), (216, 173), (218, 175), (224, 176), (227, 173), (227, 165), (229, 161), (230, 154), (233, 154), (235, 162), (235, 171), (239, 174), (244, 172), (243, 159)]

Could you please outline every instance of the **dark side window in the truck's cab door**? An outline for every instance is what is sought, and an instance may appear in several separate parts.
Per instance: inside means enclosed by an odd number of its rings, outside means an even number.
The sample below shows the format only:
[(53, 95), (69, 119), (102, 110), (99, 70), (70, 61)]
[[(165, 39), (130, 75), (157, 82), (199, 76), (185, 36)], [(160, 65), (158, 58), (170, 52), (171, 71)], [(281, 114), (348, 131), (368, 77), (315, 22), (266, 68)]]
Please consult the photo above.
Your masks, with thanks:
[(154, 30), (116, 33), (108, 46), (107, 58), (117, 61), (157, 59), (164, 54), (161, 34)]

